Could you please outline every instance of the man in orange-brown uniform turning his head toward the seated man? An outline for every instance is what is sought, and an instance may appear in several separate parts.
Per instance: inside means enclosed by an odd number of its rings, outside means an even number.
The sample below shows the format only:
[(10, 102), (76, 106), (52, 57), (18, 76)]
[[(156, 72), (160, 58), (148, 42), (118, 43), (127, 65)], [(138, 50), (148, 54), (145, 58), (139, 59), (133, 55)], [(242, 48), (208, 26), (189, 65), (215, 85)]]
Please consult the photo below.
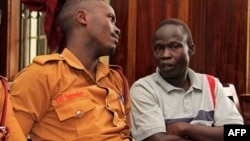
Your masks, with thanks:
[(10, 91), (15, 115), (32, 141), (129, 141), (128, 83), (119, 66), (106, 66), (120, 30), (102, 0), (68, 0), (59, 23), (67, 47), (35, 57)]

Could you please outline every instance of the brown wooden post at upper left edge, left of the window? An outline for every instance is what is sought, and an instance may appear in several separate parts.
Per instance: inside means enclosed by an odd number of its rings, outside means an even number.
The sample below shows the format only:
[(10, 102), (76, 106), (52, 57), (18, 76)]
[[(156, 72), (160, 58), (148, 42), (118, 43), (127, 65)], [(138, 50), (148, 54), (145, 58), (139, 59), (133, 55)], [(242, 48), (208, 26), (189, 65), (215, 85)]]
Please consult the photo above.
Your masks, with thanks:
[(0, 0), (0, 75), (9, 81), (19, 71), (20, 3), (19, 0)]

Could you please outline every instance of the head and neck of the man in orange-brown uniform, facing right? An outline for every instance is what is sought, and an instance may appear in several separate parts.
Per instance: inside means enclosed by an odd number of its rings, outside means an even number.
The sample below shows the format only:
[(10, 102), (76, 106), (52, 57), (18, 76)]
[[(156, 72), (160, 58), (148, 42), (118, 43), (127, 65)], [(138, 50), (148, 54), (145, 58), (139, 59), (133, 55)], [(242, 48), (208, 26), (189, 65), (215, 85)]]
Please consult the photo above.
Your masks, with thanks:
[(86, 0), (71, 11), (61, 22), (67, 27), (67, 48), (95, 79), (99, 57), (112, 55), (118, 45), (120, 30), (115, 25), (114, 10), (104, 1)]

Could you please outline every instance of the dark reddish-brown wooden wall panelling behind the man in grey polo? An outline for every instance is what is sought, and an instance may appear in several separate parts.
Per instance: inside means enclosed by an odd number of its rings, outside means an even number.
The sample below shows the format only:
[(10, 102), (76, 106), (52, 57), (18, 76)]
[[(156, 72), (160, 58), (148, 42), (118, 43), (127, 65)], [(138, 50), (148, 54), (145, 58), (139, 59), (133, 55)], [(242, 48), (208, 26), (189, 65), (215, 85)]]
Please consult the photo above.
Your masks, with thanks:
[[(196, 54), (191, 58), (191, 68), (215, 75), (222, 83), (235, 84), (238, 93), (246, 92), (248, 0), (137, 0), (136, 49), (127, 52), (128, 36), (132, 34), (128, 34), (131, 1), (112, 1), (122, 35), (111, 59), (126, 73), (134, 71), (130, 83), (155, 71), (154, 29), (161, 20), (171, 17), (185, 21), (192, 31)], [(130, 54), (135, 54), (134, 60), (128, 58)], [(135, 68), (127, 64), (128, 60)]]

